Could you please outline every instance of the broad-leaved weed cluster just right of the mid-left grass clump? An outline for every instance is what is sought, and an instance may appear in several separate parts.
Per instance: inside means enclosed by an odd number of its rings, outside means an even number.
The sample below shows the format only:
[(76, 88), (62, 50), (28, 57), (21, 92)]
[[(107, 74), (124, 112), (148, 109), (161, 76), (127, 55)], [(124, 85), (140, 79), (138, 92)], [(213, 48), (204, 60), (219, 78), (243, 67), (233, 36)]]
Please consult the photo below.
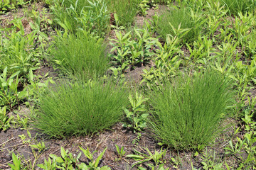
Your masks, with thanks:
[[(119, 65), (121, 71), (124, 72), (129, 65), (132, 68), (137, 64), (149, 62), (154, 56), (154, 52), (151, 52), (151, 48), (158, 41), (156, 38), (151, 38), (149, 30), (134, 28), (134, 32), (129, 31), (124, 34), (122, 31), (115, 30), (117, 40), (110, 39), (110, 45), (112, 45), (110, 55), (114, 58), (114, 64)], [(134, 35), (132, 35), (134, 33)]]

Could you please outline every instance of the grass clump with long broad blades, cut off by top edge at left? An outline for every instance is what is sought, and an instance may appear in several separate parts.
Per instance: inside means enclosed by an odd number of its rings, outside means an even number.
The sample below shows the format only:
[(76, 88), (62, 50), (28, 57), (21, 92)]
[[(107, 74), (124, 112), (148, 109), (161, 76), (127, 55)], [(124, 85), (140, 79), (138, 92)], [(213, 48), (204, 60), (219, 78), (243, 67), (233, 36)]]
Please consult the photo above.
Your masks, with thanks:
[(50, 8), (55, 16), (53, 21), (67, 32), (75, 33), (78, 30), (85, 30), (102, 36), (110, 28), (110, 13), (103, 0), (57, 0)]

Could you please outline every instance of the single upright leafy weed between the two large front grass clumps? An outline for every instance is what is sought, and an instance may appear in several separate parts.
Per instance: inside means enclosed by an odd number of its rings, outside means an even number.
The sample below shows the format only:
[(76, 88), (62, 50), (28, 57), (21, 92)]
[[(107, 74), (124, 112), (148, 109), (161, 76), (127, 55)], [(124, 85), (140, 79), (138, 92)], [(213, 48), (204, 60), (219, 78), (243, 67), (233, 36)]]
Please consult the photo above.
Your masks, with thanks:
[(132, 105), (132, 111), (129, 111), (127, 108), (124, 109), (124, 113), (127, 117), (127, 123), (124, 123), (124, 127), (132, 128), (134, 133), (146, 128), (146, 118), (149, 116), (149, 114), (143, 113), (146, 111), (143, 103), (147, 100), (149, 100), (149, 98), (143, 98), (143, 96), (139, 95), (137, 92), (135, 98), (129, 94), (129, 102)]

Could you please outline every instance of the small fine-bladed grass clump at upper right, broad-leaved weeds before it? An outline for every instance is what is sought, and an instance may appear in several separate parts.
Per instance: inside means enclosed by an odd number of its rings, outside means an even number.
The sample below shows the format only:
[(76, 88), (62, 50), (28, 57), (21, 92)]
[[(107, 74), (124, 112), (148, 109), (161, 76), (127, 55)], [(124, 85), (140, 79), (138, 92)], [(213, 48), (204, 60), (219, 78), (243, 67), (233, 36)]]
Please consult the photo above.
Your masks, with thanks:
[(201, 33), (201, 16), (191, 16), (191, 8), (171, 8), (164, 11), (160, 17), (154, 18), (156, 32), (161, 38), (167, 35), (179, 36), (184, 42), (193, 42)]

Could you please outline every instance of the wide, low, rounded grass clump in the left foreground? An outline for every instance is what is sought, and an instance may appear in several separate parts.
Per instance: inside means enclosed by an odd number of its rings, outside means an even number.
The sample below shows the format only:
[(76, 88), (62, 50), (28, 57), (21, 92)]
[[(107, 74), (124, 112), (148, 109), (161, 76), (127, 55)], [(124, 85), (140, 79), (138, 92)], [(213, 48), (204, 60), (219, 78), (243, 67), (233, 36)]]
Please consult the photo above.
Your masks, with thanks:
[(39, 98), (36, 128), (50, 137), (87, 135), (118, 123), (127, 106), (124, 86), (111, 81), (64, 81)]

